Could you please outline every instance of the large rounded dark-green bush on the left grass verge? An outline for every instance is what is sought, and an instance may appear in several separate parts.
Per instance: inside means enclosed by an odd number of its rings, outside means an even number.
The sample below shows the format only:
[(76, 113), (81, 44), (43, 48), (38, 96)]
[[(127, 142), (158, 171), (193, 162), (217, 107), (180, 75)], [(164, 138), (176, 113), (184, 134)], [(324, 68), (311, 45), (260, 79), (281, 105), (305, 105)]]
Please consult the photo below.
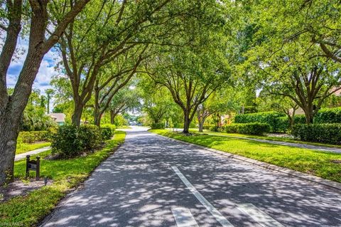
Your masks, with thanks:
[(53, 136), (52, 153), (62, 157), (75, 157), (82, 152), (92, 151), (102, 142), (99, 128), (94, 125), (63, 125)]

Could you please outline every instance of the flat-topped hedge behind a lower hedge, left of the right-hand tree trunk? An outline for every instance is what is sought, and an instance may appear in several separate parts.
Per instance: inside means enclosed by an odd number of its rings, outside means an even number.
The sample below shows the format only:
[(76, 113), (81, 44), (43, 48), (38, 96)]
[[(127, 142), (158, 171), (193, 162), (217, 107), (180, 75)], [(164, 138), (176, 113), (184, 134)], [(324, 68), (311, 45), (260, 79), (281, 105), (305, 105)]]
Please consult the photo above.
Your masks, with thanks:
[(235, 123), (264, 123), (270, 126), (270, 132), (285, 132), (283, 122), (279, 120), (279, 117), (285, 115), (281, 112), (256, 112), (245, 115), (237, 115), (234, 117)]

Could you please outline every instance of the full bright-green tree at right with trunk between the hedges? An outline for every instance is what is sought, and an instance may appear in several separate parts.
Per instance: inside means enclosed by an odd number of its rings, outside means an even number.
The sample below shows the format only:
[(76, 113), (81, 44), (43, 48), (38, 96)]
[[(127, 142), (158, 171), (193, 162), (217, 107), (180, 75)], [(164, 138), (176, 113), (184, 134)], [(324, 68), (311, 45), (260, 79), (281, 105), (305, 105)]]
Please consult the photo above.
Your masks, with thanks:
[(322, 0), (281, 1), (276, 6), (266, 3), (269, 1), (246, 5), (249, 11), (244, 26), (256, 28), (249, 36), (252, 48), (244, 53), (249, 73), (246, 79), (258, 80), (268, 93), (291, 98), (310, 124), (323, 102), (341, 89), (340, 64), (325, 58), (313, 34), (327, 32), (329, 28), (315, 20), (329, 21), (330, 16), (336, 19), (338, 6)]

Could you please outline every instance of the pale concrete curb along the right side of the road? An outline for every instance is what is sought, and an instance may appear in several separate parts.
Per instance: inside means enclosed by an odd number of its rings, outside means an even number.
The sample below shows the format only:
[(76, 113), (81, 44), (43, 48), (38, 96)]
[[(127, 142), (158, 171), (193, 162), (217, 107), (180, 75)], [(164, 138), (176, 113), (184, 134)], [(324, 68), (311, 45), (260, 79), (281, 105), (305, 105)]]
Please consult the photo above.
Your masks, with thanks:
[[(156, 133), (153, 133), (151, 132), (152, 134), (156, 134)], [(209, 151), (209, 152), (213, 152), (215, 154), (220, 154), (224, 157), (229, 157), (231, 159), (237, 159), (237, 160), (240, 160), (240, 161), (243, 161), (243, 162), (248, 162), (249, 164), (254, 164), (258, 167), (263, 167), (264, 169), (271, 169), (271, 170), (274, 170), (274, 171), (278, 171), (278, 172), (281, 172), (283, 174), (287, 174), (288, 176), (295, 176), (299, 179), (304, 179), (306, 181), (310, 181), (310, 182), (313, 182), (315, 184), (320, 184), (320, 185), (323, 185), (323, 186), (328, 186), (329, 188), (331, 189), (336, 189), (337, 191), (341, 191), (341, 183), (338, 183), (338, 182), (335, 182), (335, 181), (330, 181), (328, 179), (323, 179), (319, 176), (312, 176), (312, 175), (309, 175), (309, 174), (304, 174), (304, 173), (301, 173), (300, 171), (296, 171), (296, 170), (293, 170), (293, 169), (287, 169), (287, 168), (284, 168), (284, 167), (278, 167), (274, 164), (269, 164), (269, 163), (266, 163), (266, 162), (260, 162), (260, 161), (257, 161), (257, 160), (254, 160), (254, 159), (249, 159), (247, 157), (242, 157), (238, 154), (231, 154), (229, 152), (222, 152), (220, 150), (217, 150), (217, 149), (213, 149), (213, 148), (209, 148), (209, 147), (204, 147), (204, 146), (201, 146), (201, 145), (198, 145), (198, 144), (193, 144), (193, 143), (190, 143), (190, 142), (185, 142), (185, 141), (181, 141), (181, 140), (178, 140), (178, 139), (173, 139), (173, 138), (170, 138), (170, 137), (165, 137), (161, 134), (156, 134), (158, 135), (159, 137), (163, 137), (163, 138), (166, 138), (168, 140), (171, 140), (171, 141), (176, 141), (176, 142), (180, 142), (180, 143), (183, 143), (183, 144), (187, 144), (187, 145), (190, 145), (191, 147), (197, 147), (197, 148), (200, 148), (200, 149), (205, 149), (206, 151)]]

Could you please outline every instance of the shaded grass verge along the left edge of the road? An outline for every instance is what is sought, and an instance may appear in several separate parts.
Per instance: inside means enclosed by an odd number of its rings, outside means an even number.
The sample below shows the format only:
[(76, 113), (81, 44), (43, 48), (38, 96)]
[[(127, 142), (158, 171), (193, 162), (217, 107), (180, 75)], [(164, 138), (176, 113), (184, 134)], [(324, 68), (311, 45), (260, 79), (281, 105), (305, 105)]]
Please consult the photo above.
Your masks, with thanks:
[[(0, 226), (6, 223), (18, 223), (20, 226), (36, 226), (65, 196), (67, 191), (85, 181), (91, 172), (104, 159), (112, 154), (119, 143), (124, 142), (125, 132), (115, 132), (114, 139), (109, 140), (104, 149), (88, 154), (86, 157), (77, 157), (64, 160), (44, 160), (43, 157), (50, 151), (40, 153), (40, 175), (53, 179), (53, 184), (43, 186), (32, 191), (27, 196), (17, 196), (9, 201), (0, 203)], [(33, 156), (34, 157), (34, 156)], [(15, 177), (25, 176), (25, 161), (15, 163)], [(32, 176), (34, 172), (32, 172)]]

